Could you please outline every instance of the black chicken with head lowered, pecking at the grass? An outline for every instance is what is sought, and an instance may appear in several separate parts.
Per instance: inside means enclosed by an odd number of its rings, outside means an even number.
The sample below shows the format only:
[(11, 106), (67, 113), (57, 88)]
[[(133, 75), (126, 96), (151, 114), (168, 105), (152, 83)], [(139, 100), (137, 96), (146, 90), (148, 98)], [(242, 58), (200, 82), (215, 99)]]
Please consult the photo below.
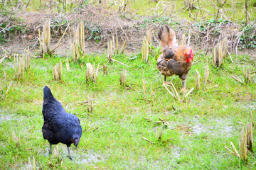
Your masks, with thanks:
[(63, 143), (68, 147), (68, 157), (70, 159), (70, 145), (73, 143), (78, 147), (82, 128), (78, 117), (71, 113), (66, 113), (63, 106), (53, 97), (48, 86), (43, 88), (43, 138), (51, 145)]

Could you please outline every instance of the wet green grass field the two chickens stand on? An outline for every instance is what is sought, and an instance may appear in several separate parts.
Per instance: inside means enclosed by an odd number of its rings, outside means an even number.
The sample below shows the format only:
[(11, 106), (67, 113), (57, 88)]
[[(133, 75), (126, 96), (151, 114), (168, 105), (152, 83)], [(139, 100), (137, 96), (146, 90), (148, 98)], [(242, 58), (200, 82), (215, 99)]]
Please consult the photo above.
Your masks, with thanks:
[[(135, 54), (136, 56), (136, 54)], [(255, 116), (255, 84), (242, 85), (230, 75), (242, 76), (242, 68), (251, 67), (255, 62), (248, 56), (238, 56), (234, 63), (227, 57), (223, 67), (210, 65), (210, 78), (206, 91), (193, 91), (193, 94), (180, 103), (168, 94), (162, 82), (164, 77), (156, 69), (156, 60), (142, 61), (140, 55), (122, 55), (117, 62), (107, 64), (108, 75), (102, 69), (97, 84), (86, 83), (86, 63), (97, 65), (107, 62), (107, 55), (87, 55), (80, 62), (70, 62), (71, 72), (65, 69), (63, 79), (53, 81), (52, 68), (60, 57), (32, 59), (32, 69), (24, 79), (14, 79), (13, 60), (0, 65), (0, 77), (6, 70), (11, 89), (0, 101), (0, 169), (23, 169), (28, 166), (28, 157), (35, 157), (37, 169), (253, 169), (255, 153), (250, 153), (247, 164), (226, 154), (224, 146), (233, 142), (238, 149), (241, 123), (250, 121), (250, 111)], [(244, 59), (249, 62), (244, 62)], [(195, 69), (203, 76), (208, 56), (198, 53), (187, 79), (187, 88), (195, 87)], [(82, 64), (83, 69), (81, 69)], [(127, 85), (119, 84), (119, 73), (127, 69)], [(142, 88), (142, 78), (146, 80), (146, 96)], [(167, 80), (170, 80), (169, 77)], [(1, 84), (4, 80), (1, 79)], [(181, 80), (173, 81), (181, 89)], [(152, 84), (152, 91), (151, 91)], [(62, 164), (53, 155), (48, 155), (48, 142), (43, 140), (41, 127), (43, 115), (43, 86), (49, 86), (53, 95), (63, 104), (66, 111), (80, 118), (82, 130), (95, 123), (92, 132), (83, 132), (78, 149), (71, 147), (70, 161), (68, 150), (59, 144)], [(216, 88), (209, 89), (215, 85)], [(217, 91), (216, 91), (217, 90)], [(6, 87), (1, 87), (1, 95)], [(151, 94), (154, 93), (154, 96)], [(93, 113), (87, 111), (89, 97), (94, 100)], [(173, 110), (172, 106), (176, 108)], [(168, 125), (148, 122), (144, 118), (159, 121), (166, 119)], [(189, 128), (178, 128), (188, 126)], [(94, 129), (92, 128), (92, 129)], [(163, 135), (159, 142), (155, 128)], [(21, 145), (12, 137), (20, 135)], [(253, 132), (255, 135), (255, 131)], [(142, 137), (154, 142), (150, 144)], [(171, 140), (169, 140), (171, 139)], [(56, 148), (55, 145), (53, 148)], [(252, 167), (251, 167), (252, 166)]]

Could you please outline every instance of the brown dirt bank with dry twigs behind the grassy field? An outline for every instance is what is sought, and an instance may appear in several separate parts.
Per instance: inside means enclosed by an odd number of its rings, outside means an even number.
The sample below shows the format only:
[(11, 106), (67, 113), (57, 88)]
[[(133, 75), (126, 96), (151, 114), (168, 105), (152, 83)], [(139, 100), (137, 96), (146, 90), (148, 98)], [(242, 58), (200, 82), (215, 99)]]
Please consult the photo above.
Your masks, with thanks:
[[(64, 35), (63, 42), (56, 50), (56, 54), (63, 57), (70, 55), (70, 43), (73, 42), (74, 27), (78, 25), (80, 21), (85, 23), (85, 51), (86, 53), (102, 54), (107, 52), (107, 41), (112, 40), (112, 36), (117, 36), (119, 39), (119, 46), (127, 40), (127, 53), (139, 52), (142, 46), (142, 39), (146, 34), (146, 19), (161, 18), (161, 16), (138, 16), (134, 13), (121, 13), (116, 11), (106, 10), (102, 6), (88, 5), (86, 7), (78, 8), (77, 11), (70, 13), (33, 13), (16, 11), (13, 15), (14, 18), (1, 15), (1, 23), (10, 23), (8, 28), (16, 28), (24, 31), (6, 31), (4, 39), (7, 42), (1, 45), (3, 49), (0, 50), (0, 55), (7, 53), (21, 54), (23, 50), (29, 47), (33, 55), (38, 55), (38, 28), (42, 30), (43, 23), (50, 19), (51, 21), (51, 49), (56, 45), (60, 37), (63, 35), (65, 28), (68, 27), (67, 32)], [(18, 19), (15, 19), (18, 18)], [(183, 33), (189, 36), (190, 45), (194, 48), (195, 52), (203, 50), (208, 52), (212, 51), (213, 45), (215, 45), (224, 36), (228, 38), (229, 52), (235, 52), (238, 44), (238, 38), (242, 34), (240, 25), (237, 23), (220, 23), (218, 26), (211, 27), (208, 31), (201, 30), (201, 28), (194, 26), (195, 23), (181, 18), (171, 18), (171, 23), (166, 21), (168, 25), (171, 25), (176, 32), (178, 40), (181, 41)], [(156, 40), (156, 33), (159, 30), (159, 26), (164, 24), (164, 21), (160, 23), (153, 23), (152, 30), (152, 42), (154, 47), (159, 45)], [(252, 23), (253, 24), (253, 23)], [(7, 30), (7, 29), (6, 29)], [(216, 30), (220, 30), (217, 33)], [(96, 42), (100, 38), (99, 42)], [(255, 56), (256, 50), (243, 50), (238, 51), (239, 55), (246, 54)]]

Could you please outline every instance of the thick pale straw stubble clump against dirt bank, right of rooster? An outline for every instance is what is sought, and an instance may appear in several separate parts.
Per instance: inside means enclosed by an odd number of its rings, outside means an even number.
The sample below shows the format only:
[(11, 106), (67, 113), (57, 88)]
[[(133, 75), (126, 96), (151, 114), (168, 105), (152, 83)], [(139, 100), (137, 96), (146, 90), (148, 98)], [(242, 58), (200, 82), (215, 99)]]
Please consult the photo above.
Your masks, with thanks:
[(220, 67), (223, 64), (223, 58), (228, 54), (228, 38), (223, 38), (213, 48), (213, 64)]

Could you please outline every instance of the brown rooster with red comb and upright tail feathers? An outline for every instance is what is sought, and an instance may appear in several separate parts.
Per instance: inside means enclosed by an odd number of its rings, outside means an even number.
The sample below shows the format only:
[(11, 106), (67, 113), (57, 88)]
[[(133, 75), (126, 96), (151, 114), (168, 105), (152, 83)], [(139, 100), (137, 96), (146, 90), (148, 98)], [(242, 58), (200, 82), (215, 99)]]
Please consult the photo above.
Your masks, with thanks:
[(193, 62), (193, 50), (188, 45), (178, 46), (176, 34), (168, 26), (161, 26), (157, 37), (162, 46), (161, 55), (157, 59), (157, 69), (164, 75), (164, 84), (166, 77), (178, 75), (182, 81), (181, 91), (186, 91), (186, 78)]

